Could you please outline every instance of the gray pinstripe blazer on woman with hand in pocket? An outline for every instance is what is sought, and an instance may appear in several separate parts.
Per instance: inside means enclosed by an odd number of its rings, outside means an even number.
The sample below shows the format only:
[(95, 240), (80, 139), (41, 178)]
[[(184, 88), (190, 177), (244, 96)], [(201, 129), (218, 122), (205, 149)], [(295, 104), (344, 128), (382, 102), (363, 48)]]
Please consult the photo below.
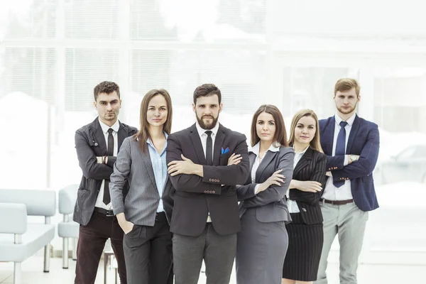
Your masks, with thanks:
[[(123, 187), (129, 181), (129, 192), (123, 200)], [(172, 216), (174, 188), (169, 178), (160, 198), (149, 151), (142, 153), (133, 137), (124, 139), (109, 182), (114, 214), (124, 212), (133, 224), (154, 226), (158, 202), (163, 202), (168, 222)]]

